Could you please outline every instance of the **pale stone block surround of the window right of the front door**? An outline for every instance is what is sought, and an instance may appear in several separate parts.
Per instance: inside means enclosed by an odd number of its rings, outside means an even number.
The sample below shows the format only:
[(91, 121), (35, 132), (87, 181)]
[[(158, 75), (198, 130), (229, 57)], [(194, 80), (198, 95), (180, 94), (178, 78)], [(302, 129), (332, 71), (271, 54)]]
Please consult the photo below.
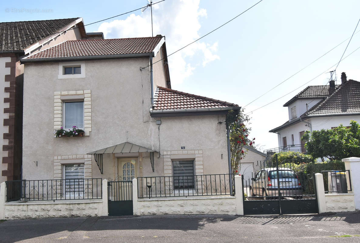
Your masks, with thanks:
[(172, 161), (175, 160), (194, 160), (195, 175), (203, 175), (203, 154), (202, 150), (170, 150), (163, 152), (164, 176), (172, 176)]

